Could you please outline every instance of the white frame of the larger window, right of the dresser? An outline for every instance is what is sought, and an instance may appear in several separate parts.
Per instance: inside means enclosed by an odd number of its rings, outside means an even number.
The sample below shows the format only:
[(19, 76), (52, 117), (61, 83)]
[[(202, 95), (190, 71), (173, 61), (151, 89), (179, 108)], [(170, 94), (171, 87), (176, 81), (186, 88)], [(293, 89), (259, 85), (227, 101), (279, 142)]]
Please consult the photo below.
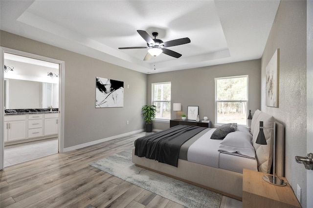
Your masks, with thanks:
[[(223, 100), (223, 101), (217, 101), (217, 81), (218, 80), (225, 80), (225, 79), (234, 79), (234, 78), (246, 78), (246, 98), (247, 100), (232, 100), (232, 101), (228, 101), (228, 100)], [(218, 77), (218, 78), (214, 78), (214, 82), (215, 82), (215, 98), (214, 98), (214, 103), (215, 103), (215, 109), (214, 109), (214, 113), (215, 113), (215, 125), (224, 125), (224, 123), (217, 123), (217, 106), (218, 103), (222, 103), (222, 102), (246, 102), (246, 118), (248, 117), (248, 106), (249, 106), (249, 75), (239, 75), (239, 76), (230, 76), (230, 77)], [(248, 126), (248, 122), (246, 121), (246, 126)]]

